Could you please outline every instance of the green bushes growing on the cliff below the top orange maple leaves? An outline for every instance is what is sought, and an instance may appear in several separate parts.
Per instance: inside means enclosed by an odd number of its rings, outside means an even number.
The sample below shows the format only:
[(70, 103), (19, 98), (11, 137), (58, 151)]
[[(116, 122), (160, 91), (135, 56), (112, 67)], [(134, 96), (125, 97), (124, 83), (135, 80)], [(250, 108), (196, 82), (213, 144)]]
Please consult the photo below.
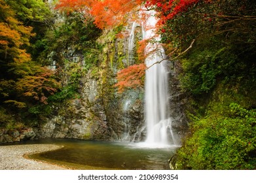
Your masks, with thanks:
[[(37, 50), (41, 50), (39, 61), (45, 65), (56, 63), (56, 76), (62, 81), (62, 88), (55, 95), (49, 97), (49, 102), (62, 102), (65, 99), (79, 97), (81, 77), (98, 65), (98, 44), (96, 39), (100, 29), (86, 20), (78, 12), (62, 14), (64, 22), (56, 24), (53, 30), (48, 30), (43, 39), (35, 42)], [(71, 61), (67, 52), (79, 54), (83, 61)], [(48, 58), (48, 59), (45, 59)]]

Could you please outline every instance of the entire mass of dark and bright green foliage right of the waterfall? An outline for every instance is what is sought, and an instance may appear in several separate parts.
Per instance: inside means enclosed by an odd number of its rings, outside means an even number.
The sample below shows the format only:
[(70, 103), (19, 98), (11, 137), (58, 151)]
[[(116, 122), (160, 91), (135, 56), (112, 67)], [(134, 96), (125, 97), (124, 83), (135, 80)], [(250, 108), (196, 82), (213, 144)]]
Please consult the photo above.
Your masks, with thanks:
[(167, 21), (163, 42), (179, 56), (191, 134), (177, 169), (255, 169), (255, 3), (198, 1)]

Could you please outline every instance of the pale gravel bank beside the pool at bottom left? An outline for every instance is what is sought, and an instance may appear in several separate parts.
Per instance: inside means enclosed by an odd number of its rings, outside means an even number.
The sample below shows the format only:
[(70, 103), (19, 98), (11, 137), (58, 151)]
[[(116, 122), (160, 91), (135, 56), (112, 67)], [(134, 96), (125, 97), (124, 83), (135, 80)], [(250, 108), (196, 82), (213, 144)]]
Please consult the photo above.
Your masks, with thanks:
[(24, 155), (56, 150), (54, 144), (24, 144), (0, 146), (0, 170), (64, 170), (64, 167), (26, 159)]

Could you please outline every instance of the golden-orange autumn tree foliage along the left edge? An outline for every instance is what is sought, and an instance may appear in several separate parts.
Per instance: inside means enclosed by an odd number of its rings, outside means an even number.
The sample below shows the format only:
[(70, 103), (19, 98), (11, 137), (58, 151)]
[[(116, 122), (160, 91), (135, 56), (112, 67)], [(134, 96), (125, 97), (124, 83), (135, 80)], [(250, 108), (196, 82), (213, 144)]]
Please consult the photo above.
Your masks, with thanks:
[[(24, 49), (34, 36), (32, 27), (27, 27), (16, 19), (17, 14), (4, 0), (0, 0), (0, 58), (1, 78), (0, 96), (16, 107), (26, 107), (26, 103), (16, 101), (21, 95), (33, 97), (47, 103), (48, 95), (59, 88), (54, 73), (46, 67), (31, 61), (30, 54)], [(5, 68), (7, 70), (5, 71)]]

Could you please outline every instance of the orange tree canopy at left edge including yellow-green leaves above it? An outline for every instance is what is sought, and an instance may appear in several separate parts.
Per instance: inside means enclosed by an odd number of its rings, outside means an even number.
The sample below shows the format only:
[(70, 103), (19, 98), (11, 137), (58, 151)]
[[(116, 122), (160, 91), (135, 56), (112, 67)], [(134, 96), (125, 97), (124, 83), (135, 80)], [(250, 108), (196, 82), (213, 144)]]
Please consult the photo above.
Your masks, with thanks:
[(54, 72), (32, 61), (27, 51), (35, 33), (24, 21), (44, 21), (48, 12), (43, 1), (0, 0), (0, 105), (7, 116), (46, 104), (60, 87)]

